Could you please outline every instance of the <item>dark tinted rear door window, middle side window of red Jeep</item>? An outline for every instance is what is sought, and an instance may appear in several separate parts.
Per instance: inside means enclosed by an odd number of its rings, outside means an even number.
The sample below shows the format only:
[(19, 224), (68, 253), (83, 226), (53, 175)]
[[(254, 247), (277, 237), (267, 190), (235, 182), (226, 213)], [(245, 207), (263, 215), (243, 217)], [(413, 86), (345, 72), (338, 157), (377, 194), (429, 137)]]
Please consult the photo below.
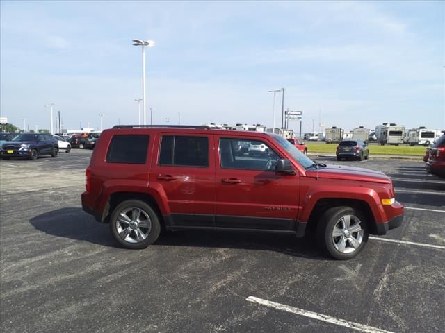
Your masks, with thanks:
[(209, 139), (165, 135), (161, 141), (159, 164), (208, 167)]

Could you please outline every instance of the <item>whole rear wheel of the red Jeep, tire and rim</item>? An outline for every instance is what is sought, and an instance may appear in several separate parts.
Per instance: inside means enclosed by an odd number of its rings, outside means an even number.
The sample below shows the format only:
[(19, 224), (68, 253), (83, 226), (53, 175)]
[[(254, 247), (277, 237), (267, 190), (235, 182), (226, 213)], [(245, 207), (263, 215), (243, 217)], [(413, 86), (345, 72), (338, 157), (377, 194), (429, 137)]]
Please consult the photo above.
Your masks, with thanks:
[(140, 200), (127, 200), (113, 210), (110, 219), (113, 237), (126, 248), (146, 248), (161, 232), (159, 218), (152, 207)]

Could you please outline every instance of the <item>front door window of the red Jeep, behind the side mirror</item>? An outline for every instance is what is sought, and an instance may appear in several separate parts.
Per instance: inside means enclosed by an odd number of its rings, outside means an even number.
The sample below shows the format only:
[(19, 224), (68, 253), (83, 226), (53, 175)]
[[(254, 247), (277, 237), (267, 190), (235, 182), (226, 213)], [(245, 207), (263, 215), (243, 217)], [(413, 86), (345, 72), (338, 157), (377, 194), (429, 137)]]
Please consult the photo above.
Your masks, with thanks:
[(223, 169), (275, 171), (280, 156), (261, 141), (220, 139), (220, 160)]

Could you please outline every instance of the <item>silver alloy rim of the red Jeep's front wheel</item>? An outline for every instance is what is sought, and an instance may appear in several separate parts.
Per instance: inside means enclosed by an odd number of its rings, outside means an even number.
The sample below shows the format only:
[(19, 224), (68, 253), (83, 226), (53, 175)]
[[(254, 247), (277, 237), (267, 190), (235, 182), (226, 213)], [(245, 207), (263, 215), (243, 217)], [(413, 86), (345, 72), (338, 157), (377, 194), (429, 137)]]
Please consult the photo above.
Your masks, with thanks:
[(353, 253), (362, 244), (362, 221), (355, 215), (342, 216), (332, 229), (332, 243), (340, 253)]

